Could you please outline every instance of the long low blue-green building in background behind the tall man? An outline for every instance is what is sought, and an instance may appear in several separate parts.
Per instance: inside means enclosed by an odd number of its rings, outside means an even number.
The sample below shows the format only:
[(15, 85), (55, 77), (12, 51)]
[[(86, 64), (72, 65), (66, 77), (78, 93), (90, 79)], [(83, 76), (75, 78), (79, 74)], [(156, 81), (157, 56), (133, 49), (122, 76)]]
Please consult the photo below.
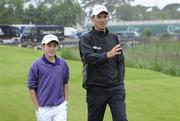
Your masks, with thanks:
[[(91, 29), (91, 24), (87, 24), (87, 30)], [(117, 31), (136, 31), (143, 33), (146, 29), (151, 30), (153, 35), (163, 33), (180, 34), (180, 20), (150, 20), (150, 21), (122, 21), (109, 22), (109, 29)]]

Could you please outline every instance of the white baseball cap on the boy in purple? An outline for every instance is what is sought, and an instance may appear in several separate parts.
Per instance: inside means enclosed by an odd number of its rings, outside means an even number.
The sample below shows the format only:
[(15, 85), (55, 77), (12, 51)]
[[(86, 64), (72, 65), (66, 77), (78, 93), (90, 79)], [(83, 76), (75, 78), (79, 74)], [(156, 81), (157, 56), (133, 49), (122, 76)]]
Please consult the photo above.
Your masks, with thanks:
[(42, 39), (41, 44), (42, 44), (42, 45), (43, 45), (43, 44), (48, 44), (48, 43), (51, 42), (51, 41), (55, 41), (55, 42), (57, 42), (57, 43), (59, 44), (59, 40), (58, 40), (57, 36), (55, 36), (55, 35), (53, 35), (53, 34), (47, 34), (47, 35), (45, 35), (45, 36), (43, 37), (43, 39)]

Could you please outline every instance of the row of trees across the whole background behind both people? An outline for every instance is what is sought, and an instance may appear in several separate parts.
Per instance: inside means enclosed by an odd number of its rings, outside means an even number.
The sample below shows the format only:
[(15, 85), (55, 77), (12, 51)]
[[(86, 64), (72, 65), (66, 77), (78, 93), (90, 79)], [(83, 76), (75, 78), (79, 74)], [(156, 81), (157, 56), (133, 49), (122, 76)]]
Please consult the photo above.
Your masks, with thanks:
[[(180, 4), (157, 7), (131, 6), (134, 0), (0, 0), (0, 24), (83, 25), (87, 9), (104, 4), (112, 20), (180, 19)], [(89, 11), (91, 12), (91, 11)]]

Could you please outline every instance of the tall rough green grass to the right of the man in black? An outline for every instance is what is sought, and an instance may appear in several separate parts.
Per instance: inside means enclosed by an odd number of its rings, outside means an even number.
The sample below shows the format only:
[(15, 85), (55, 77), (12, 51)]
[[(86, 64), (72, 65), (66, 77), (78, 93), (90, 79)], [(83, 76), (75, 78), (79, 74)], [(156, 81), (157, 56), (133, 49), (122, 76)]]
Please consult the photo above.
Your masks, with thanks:
[(180, 76), (179, 47), (179, 41), (163, 40), (128, 48), (125, 53), (126, 66)]

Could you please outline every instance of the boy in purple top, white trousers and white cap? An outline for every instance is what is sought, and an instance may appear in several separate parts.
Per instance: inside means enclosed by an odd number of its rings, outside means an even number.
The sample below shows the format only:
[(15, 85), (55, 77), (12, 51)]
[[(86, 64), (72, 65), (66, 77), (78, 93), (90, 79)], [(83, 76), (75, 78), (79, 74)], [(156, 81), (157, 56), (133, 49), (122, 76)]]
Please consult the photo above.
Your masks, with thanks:
[(29, 71), (28, 88), (38, 121), (66, 121), (69, 67), (56, 56), (59, 41), (55, 35), (42, 39), (43, 56)]

